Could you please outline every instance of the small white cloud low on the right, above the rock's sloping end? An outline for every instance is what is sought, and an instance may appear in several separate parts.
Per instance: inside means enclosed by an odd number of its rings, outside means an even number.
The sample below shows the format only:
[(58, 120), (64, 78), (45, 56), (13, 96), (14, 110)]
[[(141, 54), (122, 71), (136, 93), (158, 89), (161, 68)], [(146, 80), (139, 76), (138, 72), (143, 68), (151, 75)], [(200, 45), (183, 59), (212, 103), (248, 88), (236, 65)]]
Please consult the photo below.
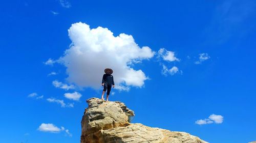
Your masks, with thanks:
[(221, 124), (222, 122), (223, 122), (223, 116), (212, 114), (209, 116), (208, 119), (204, 119), (204, 120), (200, 119), (200, 120), (197, 120), (195, 123), (198, 125), (205, 125), (205, 124), (212, 124), (212, 123)]

